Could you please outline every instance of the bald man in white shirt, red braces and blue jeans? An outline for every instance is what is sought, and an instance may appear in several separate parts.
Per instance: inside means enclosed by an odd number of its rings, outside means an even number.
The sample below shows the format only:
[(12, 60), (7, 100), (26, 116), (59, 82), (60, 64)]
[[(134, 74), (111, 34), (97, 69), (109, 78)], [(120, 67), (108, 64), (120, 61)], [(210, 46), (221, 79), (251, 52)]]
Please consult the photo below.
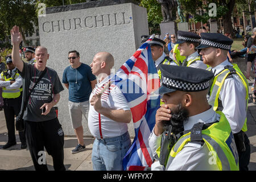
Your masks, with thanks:
[(90, 64), (93, 75), (98, 77), (90, 94), (88, 114), (89, 130), (96, 138), (92, 151), (94, 171), (122, 170), (123, 157), (131, 146), (127, 127), (131, 110), (121, 90), (110, 82), (113, 66), (114, 58), (108, 52), (97, 53)]

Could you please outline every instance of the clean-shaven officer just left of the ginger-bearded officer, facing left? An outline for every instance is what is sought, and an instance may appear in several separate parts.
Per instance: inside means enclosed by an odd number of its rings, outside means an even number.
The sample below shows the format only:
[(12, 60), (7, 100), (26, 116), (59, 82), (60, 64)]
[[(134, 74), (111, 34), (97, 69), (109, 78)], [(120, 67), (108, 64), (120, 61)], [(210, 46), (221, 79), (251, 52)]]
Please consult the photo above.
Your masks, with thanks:
[(179, 65), (185, 67), (206, 69), (207, 65), (200, 60), (200, 55), (195, 47), (200, 44), (200, 36), (194, 32), (177, 31), (177, 42), (179, 44), (177, 49), (180, 51), (181, 56), (186, 59), (179, 61)]

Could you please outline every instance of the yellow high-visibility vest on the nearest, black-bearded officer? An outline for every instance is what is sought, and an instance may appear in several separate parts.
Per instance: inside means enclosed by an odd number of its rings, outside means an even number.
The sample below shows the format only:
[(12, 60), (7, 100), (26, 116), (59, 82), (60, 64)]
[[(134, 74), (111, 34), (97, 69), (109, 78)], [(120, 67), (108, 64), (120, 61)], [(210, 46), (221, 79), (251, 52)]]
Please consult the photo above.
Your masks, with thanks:
[[(201, 130), (202, 139), (220, 171), (238, 171), (238, 152), (228, 119), (221, 111), (216, 111), (216, 113), (220, 114), (220, 121), (213, 123), (207, 129)], [(191, 131), (182, 135), (172, 147), (167, 166), (171, 164), (175, 156), (188, 142), (191, 142)], [(160, 147), (156, 150), (156, 153), (160, 156)]]

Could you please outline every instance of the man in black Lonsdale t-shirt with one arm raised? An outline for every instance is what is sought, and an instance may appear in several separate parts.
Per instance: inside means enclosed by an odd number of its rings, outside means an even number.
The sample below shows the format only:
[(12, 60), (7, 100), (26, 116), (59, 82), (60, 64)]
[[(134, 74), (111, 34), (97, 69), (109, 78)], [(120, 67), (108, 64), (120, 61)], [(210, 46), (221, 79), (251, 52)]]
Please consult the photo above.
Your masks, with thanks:
[[(26, 104), (23, 120), (34, 167), (36, 171), (48, 171), (46, 161), (42, 161), (42, 151), (46, 148), (48, 154), (52, 156), (53, 168), (56, 171), (64, 171), (64, 133), (53, 108), (60, 100), (60, 92), (64, 90), (60, 78), (56, 71), (46, 67), (49, 54), (45, 47), (36, 48), (35, 64), (24, 63), (20, 59), (19, 44), (22, 42), (22, 35), (17, 26), (11, 30), (11, 42), (13, 43), (11, 53), (13, 63), (23, 78), (21, 110)], [(41, 80), (32, 90), (41, 74), (43, 74)]]

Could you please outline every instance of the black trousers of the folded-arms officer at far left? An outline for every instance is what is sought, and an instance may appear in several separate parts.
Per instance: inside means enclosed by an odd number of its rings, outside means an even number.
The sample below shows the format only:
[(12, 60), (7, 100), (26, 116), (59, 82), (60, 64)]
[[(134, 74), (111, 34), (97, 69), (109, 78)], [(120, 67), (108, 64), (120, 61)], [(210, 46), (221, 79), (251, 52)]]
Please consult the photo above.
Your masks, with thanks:
[[(8, 142), (16, 143), (15, 137), (15, 115), (19, 115), (20, 107), (22, 104), (22, 95), (18, 98), (4, 98), (3, 111), (5, 113), (6, 127), (8, 131)], [(24, 131), (19, 132), (19, 139), (22, 144), (26, 143)]]

